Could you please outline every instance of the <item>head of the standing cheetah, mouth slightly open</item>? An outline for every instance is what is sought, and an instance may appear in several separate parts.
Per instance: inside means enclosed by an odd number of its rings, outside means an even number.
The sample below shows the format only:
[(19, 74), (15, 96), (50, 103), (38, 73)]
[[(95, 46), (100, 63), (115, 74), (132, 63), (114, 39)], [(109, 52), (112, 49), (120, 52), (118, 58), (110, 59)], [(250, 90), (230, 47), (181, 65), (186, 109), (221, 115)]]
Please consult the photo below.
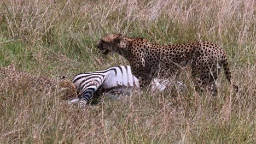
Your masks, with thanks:
[(122, 35), (121, 34), (107, 34), (104, 35), (101, 38), (100, 44), (98, 44), (98, 49), (100, 50), (105, 50), (104, 54), (108, 55), (109, 52), (115, 52), (117, 51), (118, 47), (117, 44), (119, 44), (119, 42), (122, 39)]

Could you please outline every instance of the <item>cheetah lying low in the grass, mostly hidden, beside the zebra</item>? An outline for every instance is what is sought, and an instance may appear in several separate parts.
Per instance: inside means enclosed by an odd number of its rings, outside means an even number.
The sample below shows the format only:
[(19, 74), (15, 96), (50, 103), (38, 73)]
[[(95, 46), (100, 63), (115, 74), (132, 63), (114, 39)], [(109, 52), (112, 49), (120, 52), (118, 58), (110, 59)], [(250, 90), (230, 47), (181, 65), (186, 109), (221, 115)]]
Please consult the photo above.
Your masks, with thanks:
[[(42, 75), (31, 75), (25, 71), (16, 70), (15, 63), (12, 62), (8, 67), (0, 67), (0, 85), (7, 85), (11, 82), (28, 83), (36, 91), (58, 92), (62, 100), (77, 97), (74, 83), (62, 77), (61, 79), (51, 79)], [(55, 89), (57, 88), (57, 91)]]

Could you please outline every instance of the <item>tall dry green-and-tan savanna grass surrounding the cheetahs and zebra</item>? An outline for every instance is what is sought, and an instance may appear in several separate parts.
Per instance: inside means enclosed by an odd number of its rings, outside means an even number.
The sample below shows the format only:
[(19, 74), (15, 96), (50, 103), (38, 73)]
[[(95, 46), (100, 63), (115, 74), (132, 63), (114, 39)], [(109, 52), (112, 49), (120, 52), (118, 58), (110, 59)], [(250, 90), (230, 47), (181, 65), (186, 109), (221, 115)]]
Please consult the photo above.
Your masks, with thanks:
[(183, 92), (102, 98), (78, 109), (56, 87), (35, 91), (31, 80), (0, 81), (0, 143), (255, 143), (255, 14), (254, 0), (1, 0), (1, 67), (13, 61), (31, 75), (72, 79), (129, 64), (97, 50), (107, 33), (159, 44), (207, 40), (227, 53), (240, 92), (222, 73), (217, 97), (196, 94), (184, 72)]

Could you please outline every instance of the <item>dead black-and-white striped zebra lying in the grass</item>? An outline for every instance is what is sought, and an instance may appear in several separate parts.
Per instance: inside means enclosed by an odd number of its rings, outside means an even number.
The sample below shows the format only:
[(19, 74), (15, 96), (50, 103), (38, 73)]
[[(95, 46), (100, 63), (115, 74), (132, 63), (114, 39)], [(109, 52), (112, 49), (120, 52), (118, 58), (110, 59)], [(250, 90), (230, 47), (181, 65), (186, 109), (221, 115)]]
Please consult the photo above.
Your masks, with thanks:
[[(78, 74), (74, 76), (72, 82), (77, 89), (78, 98), (68, 101), (68, 104), (78, 103), (79, 106), (85, 105), (98, 90), (103, 92), (131, 92), (132, 88), (139, 88), (138, 79), (132, 75), (129, 65)], [(161, 82), (161, 80), (154, 79), (152, 89), (164, 91), (170, 83), (173, 84), (167, 80)], [(182, 82), (177, 82), (177, 84), (184, 86)]]

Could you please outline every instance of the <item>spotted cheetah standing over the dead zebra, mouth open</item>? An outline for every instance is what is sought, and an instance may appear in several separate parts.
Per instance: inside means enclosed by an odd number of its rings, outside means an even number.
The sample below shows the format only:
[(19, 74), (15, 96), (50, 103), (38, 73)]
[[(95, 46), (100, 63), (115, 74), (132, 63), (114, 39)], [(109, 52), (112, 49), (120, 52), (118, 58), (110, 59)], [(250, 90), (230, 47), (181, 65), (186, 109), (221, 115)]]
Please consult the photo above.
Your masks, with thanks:
[(189, 44), (158, 45), (145, 38), (123, 37), (121, 34), (107, 34), (101, 38), (98, 49), (118, 53), (125, 57), (132, 74), (139, 78), (141, 87), (148, 86), (156, 75), (173, 77), (182, 68), (190, 66), (191, 77), (196, 90), (207, 90), (217, 94), (215, 81), (222, 67), (226, 79), (231, 81), (228, 59), (218, 45), (198, 41)]

